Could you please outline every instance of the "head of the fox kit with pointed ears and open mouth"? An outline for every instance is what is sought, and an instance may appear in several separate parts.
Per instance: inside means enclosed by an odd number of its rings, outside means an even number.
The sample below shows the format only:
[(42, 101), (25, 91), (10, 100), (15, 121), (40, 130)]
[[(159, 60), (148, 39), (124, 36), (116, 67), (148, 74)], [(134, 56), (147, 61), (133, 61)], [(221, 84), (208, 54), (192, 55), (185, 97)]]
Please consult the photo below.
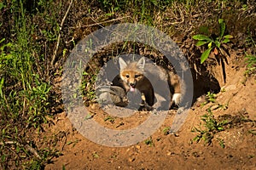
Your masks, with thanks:
[(143, 69), (145, 66), (145, 58), (139, 59), (137, 62), (127, 64), (124, 59), (119, 58), (120, 77), (130, 86), (130, 91), (134, 92), (137, 83), (143, 80)]

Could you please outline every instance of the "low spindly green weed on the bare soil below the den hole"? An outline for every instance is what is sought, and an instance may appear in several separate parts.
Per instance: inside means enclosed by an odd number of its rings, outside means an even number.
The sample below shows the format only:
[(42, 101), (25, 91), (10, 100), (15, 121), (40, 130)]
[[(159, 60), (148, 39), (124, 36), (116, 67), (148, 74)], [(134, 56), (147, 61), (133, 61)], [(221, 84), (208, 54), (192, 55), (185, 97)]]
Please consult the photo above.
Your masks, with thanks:
[[(198, 133), (193, 140), (196, 142), (203, 140), (205, 144), (212, 144), (214, 135), (224, 131), (224, 125), (228, 123), (226, 120), (219, 122), (215, 119), (210, 109), (207, 110), (205, 115), (201, 116), (201, 121), (203, 122), (203, 128), (200, 124), (200, 127), (192, 129), (192, 132)], [(221, 141), (219, 144), (224, 147), (224, 141)]]

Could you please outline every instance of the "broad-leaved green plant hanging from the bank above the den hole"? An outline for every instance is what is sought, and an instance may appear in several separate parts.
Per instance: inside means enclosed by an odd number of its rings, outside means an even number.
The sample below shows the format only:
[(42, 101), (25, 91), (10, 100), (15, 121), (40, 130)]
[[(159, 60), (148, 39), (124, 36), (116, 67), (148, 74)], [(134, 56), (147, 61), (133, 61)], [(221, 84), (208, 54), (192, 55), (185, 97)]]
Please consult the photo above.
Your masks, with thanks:
[(193, 39), (198, 40), (198, 42), (196, 42), (195, 44), (196, 46), (200, 47), (207, 44), (207, 50), (205, 50), (201, 54), (201, 64), (209, 57), (209, 54), (211, 54), (212, 49), (214, 49), (215, 55), (218, 55), (219, 53), (222, 55), (225, 55), (222, 45), (224, 43), (230, 42), (230, 38), (233, 38), (233, 36), (231, 35), (224, 35), (226, 25), (223, 19), (219, 19), (218, 24), (219, 24), (218, 37), (208, 37), (206, 35), (201, 35), (201, 34), (198, 34), (192, 37)]

